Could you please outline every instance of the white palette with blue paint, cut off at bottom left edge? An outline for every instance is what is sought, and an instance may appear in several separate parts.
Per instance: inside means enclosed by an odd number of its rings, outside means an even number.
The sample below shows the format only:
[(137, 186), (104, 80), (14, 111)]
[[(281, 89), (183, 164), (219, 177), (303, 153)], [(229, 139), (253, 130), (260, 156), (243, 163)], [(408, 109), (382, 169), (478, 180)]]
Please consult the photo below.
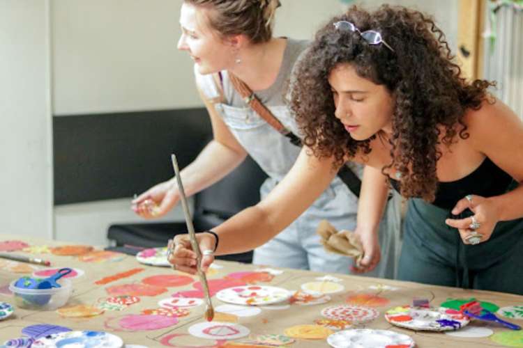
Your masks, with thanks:
[(102, 331), (68, 331), (39, 338), (31, 347), (121, 348), (123, 340), (112, 333)]

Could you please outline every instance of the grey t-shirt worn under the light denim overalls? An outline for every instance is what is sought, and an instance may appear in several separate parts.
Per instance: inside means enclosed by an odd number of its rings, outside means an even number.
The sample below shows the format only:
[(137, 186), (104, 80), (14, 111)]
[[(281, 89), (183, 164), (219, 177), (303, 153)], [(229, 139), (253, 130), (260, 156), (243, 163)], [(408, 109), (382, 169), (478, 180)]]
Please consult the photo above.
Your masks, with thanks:
[[(285, 105), (284, 94), (289, 84), (289, 78), (293, 70), (294, 64), (298, 60), (298, 56), (308, 47), (310, 41), (308, 40), (294, 40), (287, 38), (287, 45), (283, 52), (282, 66), (278, 72), (278, 77), (274, 83), (264, 90), (255, 90), (258, 99), (266, 106), (280, 106)], [(234, 86), (232, 86), (229, 79), (224, 79), (223, 90), (227, 104), (235, 107), (245, 107), (241, 95), (239, 95)]]

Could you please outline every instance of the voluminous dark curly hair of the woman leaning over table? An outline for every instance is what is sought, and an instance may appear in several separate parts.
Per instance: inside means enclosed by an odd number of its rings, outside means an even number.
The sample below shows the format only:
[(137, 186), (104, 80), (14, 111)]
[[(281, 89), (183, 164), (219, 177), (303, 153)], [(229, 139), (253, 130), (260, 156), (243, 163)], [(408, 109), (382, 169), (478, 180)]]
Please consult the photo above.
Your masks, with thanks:
[[(361, 35), (338, 30), (340, 20), (361, 31), (379, 31), (394, 52), (383, 44), (369, 45)], [(450, 146), (459, 133), (469, 134), (463, 117), (467, 109), (480, 109), (488, 99), (485, 80), (467, 82), (453, 63), (444, 33), (434, 19), (400, 6), (381, 6), (374, 12), (351, 7), (346, 14), (331, 19), (318, 31), (305, 56), (296, 65), (296, 81), (290, 91), (290, 107), (303, 131), (303, 143), (317, 157), (335, 158), (341, 166), (356, 152), (368, 154), (370, 141), (351, 139), (335, 118), (333, 93), (328, 76), (337, 65), (351, 64), (357, 74), (374, 84), (383, 85), (393, 96), (392, 162), (382, 169), (401, 173), (404, 197), (421, 197), (432, 202), (437, 189), (436, 163), (442, 142)], [(458, 125), (460, 127), (456, 127)]]

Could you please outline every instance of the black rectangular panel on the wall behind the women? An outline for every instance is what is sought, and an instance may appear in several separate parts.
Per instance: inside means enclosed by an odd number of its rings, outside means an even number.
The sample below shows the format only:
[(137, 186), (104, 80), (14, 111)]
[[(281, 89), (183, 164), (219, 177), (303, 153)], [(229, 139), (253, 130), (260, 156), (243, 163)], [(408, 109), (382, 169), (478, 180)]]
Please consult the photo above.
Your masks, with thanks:
[(205, 109), (53, 117), (54, 205), (128, 198), (187, 166), (212, 139)]

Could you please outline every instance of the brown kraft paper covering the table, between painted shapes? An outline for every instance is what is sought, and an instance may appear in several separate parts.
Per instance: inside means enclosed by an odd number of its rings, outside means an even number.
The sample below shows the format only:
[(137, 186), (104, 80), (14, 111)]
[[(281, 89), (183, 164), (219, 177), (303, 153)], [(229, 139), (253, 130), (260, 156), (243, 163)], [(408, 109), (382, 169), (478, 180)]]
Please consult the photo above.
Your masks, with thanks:
[[(0, 243), (2, 241), (13, 239), (20, 238), (13, 235), (0, 235)], [(58, 246), (64, 244), (33, 238), (23, 240), (31, 246)], [(77, 306), (80, 304), (97, 306), (100, 301), (104, 301), (107, 299), (107, 297), (112, 296), (108, 293), (108, 291), (115, 291), (115, 287), (119, 287), (120, 285), (133, 284), (130, 287), (135, 291), (141, 288), (141, 291), (150, 292), (151, 285), (144, 286), (142, 280), (151, 276), (187, 276), (186, 274), (173, 271), (167, 267), (151, 267), (140, 264), (136, 261), (135, 257), (123, 254), (119, 255), (119, 260), (117, 258), (117, 260), (112, 261), (98, 260), (98, 262), (92, 262), (91, 260), (91, 262), (86, 262), (85, 258), (81, 259), (75, 256), (59, 256), (52, 253), (29, 254), (22, 251), (16, 251), (13, 253), (34, 255), (40, 258), (45, 258), (46, 260), (50, 260), (52, 262), (52, 267), (73, 267), (75, 269), (81, 269), (84, 271), (83, 276), (71, 279), (73, 282), (74, 292), (66, 304), (66, 307)], [(10, 266), (8, 266), (6, 262), (6, 260), (0, 260), (0, 287), (8, 285), (12, 280), (20, 278), (20, 276), (27, 275), (22, 273), (15, 273), (14, 271), (24, 271), (23, 268), (26, 268), (28, 264), (22, 264), (22, 269), (17, 269), (17, 267), (13, 266), (13, 263), (10, 263)], [(222, 280), (219, 279), (223, 279), (225, 277), (234, 278), (236, 279), (236, 282), (238, 282), (243, 278), (243, 282), (248, 281), (250, 283), (257, 283), (258, 285), (284, 287), (287, 290), (299, 290), (301, 285), (304, 283), (318, 281), (318, 277), (326, 275), (312, 271), (299, 271), (294, 269), (280, 269), (280, 271), (283, 271), (282, 274), (275, 276), (271, 276), (271, 274), (266, 272), (257, 272), (255, 274), (232, 274), (234, 272), (255, 271), (260, 267), (252, 264), (238, 264), (235, 262), (225, 262), (220, 260), (215, 262), (215, 264), (221, 268), (211, 270), (208, 275), (208, 278), (211, 281), (214, 280), (214, 282), (220, 282)], [(38, 268), (43, 269), (44, 267), (38, 266)], [(112, 276), (114, 274), (120, 274), (132, 269), (142, 270), (139, 271), (139, 273), (136, 273), (127, 278), (114, 280), (103, 285), (96, 284), (97, 281), (102, 280), (105, 277)], [(331, 276), (335, 276), (340, 279), (340, 284), (344, 287), (344, 290), (342, 292), (331, 294), (331, 301), (328, 303), (308, 306), (294, 303), (291, 304), (289, 308), (282, 310), (262, 309), (261, 313), (255, 316), (237, 317), (238, 324), (241, 324), (250, 329), (250, 336), (248, 338), (254, 338), (257, 335), (268, 333), (283, 335), (285, 329), (289, 328), (290, 326), (298, 324), (314, 324), (314, 320), (322, 318), (320, 312), (323, 308), (351, 303), (374, 306), (374, 309), (378, 310), (380, 313), (377, 319), (374, 319), (372, 322), (368, 322), (366, 324), (360, 324), (358, 327), (366, 327), (371, 329), (390, 329), (400, 333), (405, 333), (414, 338), (417, 347), (500, 347), (500, 345), (498, 345), (496, 342), (493, 342), (490, 338), (455, 338), (444, 333), (415, 332), (409, 331), (407, 329), (400, 329), (386, 322), (383, 313), (389, 308), (410, 304), (414, 298), (429, 299), (432, 306), (439, 306), (441, 302), (446, 301), (448, 298), (467, 299), (471, 297), (481, 301), (496, 303), (499, 307), (523, 305), (523, 296), (517, 296), (513, 294), (462, 290), (453, 287), (438, 287), (433, 285), (407, 283), (379, 278), (366, 278), (361, 276), (344, 276), (339, 274), (331, 274)], [(181, 285), (181, 283), (183, 283), (183, 281), (181, 281), (179, 283), (169, 283), (167, 284), (169, 286), (165, 287), (163, 290), (159, 290), (158, 287), (153, 288), (156, 289), (153, 292), (162, 293), (157, 294), (156, 296), (139, 296), (139, 303), (132, 304), (125, 310), (105, 310), (103, 314), (95, 317), (62, 317), (56, 311), (33, 311), (15, 308), (15, 313), (11, 317), (0, 321), (0, 344), (8, 339), (20, 337), (22, 329), (25, 326), (52, 323), (56, 325), (67, 326), (73, 330), (111, 332), (119, 335), (128, 345), (144, 345), (146, 347), (218, 347), (215, 340), (195, 338), (188, 334), (188, 328), (190, 326), (198, 322), (204, 322), (202, 319), (205, 310), (204, 305), (190, 308), (189, 315), (185, 317), (179, 317), (179, 322), (177, 324), (173, 324), (172, 326), (168, 326), (162, 329), (144, 330), (143, 325), (139, 326), (139, 324), (137, 324), (138, 327), (135, 327), (134, 329), (125, 329), (119, 324), (122, 322), (122, 320), (125, 322), (126, 317), (128, 318), (133, 315), (137, 317), (142, 315), (143, 310), (158, 308), (158, 301), (160, 299), (170, 298), (171, 295), (176, 292), (195, 290), (192, 285), (193, 283), (197, 282), (198, 279), (196, 277), (192, 278), (193, 279), (188, 280), (190, 283), (185, 285)], [(186, 278), (179, 279), (187, 280)], [(151, 283), (151, 278), (146, 280), (146, 283)], [(120, 287), (120, 289), (122, 289), (122, 287)], [(5, 294), (5, 292), (5, 287), (3, 287), (3, 291), (1, 291), (0, 294), (0, 301), (6, 301), (14, 305), (15, 301), (13, 295)], [(370, 296), (365, 296), (365, 294)], [(352, 300), (347, 302), (347, 299), (349, 299), (350, 296), (352, 296)], [(213, 298), (213, 303), (215, 306), (224, 304), (218, 299), (215, 299), (215, 297)], [(512, 320), (512, 322), (515, 324), (522, 324), (521, 321), (518, 323), (517, 320)], [(482, 325), (476, 323), (473, 323), (473, 325), (485, 326), (485, 324)], [(500, 326), (487, 327), (492, 329), (494, 333), (508, 331), (508, 329), (504, 329)], [(232, 341), (241, 342), (245, 339), (246, 338)], [(234, 347), (232, 345), (229, 346)], [(227, 345), (225, 347), (227, 347)], [(243, 347), (254, 346), (245, 345)], [(298, 339), (293, 345), (290, 345), (289, 347), (328, 347), (328, 344), (326, 343), (326, 340)]]

